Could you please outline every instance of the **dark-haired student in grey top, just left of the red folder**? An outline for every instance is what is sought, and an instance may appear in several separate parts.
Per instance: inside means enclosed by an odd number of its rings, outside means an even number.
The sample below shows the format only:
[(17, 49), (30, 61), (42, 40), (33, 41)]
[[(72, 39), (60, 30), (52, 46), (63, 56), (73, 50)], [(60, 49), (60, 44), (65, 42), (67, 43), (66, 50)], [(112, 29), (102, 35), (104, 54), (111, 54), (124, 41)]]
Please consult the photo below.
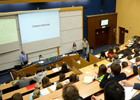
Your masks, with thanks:
[(29, 78), (25, 78), (24, 77), (24, 72), (20, 72), (19, 73), (19, 81), (17, 81), (13, 87), (16, 87), (16, 86), (19, 86), (19, 88), (23, 88), (23, 87), (26, 87), (26, 86), (29, 86), (30, 85), (30, 82), (32, 81), (32, 79), (29, 79)]

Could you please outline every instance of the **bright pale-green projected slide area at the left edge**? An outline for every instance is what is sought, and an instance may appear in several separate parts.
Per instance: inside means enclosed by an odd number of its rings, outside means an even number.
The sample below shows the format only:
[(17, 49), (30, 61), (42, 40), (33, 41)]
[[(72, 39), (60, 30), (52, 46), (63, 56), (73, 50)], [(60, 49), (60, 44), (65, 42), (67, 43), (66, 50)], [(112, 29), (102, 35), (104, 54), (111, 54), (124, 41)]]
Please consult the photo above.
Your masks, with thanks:
[(0, 19), (0, 45), (18, 41), (15, 19)]

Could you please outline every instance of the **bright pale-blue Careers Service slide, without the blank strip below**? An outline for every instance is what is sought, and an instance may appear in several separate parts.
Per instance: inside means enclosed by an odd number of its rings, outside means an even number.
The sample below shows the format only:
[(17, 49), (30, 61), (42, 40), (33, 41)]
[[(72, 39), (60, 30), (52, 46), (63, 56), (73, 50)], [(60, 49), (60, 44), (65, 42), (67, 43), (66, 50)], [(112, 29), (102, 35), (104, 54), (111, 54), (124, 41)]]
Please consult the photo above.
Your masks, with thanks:
[(19, 14), (22, 43), (60, 37), (59, 11)]

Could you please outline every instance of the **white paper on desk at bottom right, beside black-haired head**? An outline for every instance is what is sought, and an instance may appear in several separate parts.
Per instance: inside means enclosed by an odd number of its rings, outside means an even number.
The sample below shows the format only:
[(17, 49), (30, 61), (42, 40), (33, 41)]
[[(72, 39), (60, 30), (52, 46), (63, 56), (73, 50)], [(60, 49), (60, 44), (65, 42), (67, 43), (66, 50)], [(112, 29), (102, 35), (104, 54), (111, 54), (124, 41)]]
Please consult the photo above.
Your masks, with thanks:
[(124, 86), (125, 90), (125, 100), (130, 100), (133, 95), (137, 92), (137, 90), (133, 89), (133, 87)]

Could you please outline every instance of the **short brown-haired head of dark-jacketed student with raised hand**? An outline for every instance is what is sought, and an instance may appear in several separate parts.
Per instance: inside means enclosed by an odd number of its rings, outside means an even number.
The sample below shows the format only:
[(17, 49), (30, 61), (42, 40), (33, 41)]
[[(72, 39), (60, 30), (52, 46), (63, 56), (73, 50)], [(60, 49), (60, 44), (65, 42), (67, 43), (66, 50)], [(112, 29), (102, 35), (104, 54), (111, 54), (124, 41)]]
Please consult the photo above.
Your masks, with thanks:
[(121, 72), (121, 66), (120, 66), (120, 64), (118, 64), (116, 62), (112, 63), (110, 68), (111, 68), (112, 74), (114, 74), (115, 76), (119, 75)]

